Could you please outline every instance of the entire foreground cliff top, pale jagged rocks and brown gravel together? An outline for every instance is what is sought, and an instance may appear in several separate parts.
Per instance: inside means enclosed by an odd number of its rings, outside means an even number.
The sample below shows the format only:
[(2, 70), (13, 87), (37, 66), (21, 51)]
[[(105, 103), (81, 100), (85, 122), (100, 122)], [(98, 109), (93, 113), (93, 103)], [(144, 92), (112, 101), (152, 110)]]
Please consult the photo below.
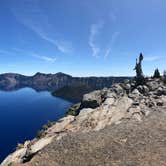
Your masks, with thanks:
[(1, 165), (166, 165), (162, 79), (147, 78), (139, 86), (126, 80), (93, 91), (68, 114)]

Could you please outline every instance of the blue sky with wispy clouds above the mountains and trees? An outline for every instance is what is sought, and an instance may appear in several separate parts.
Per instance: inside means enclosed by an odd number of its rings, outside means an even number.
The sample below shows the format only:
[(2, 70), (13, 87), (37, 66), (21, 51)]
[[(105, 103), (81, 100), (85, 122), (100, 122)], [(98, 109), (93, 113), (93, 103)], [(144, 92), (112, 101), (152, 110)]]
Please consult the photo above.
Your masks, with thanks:
[(1, 0), (0, 73), (145, 75), (166, 69), (165, 0)]

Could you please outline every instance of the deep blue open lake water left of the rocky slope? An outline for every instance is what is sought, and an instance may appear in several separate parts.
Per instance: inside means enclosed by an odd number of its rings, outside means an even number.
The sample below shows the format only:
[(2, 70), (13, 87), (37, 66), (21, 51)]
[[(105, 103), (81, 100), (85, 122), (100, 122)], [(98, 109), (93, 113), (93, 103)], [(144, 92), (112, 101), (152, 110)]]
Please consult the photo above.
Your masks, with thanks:
[(43, 124), (63, 117), (71, 104), (30, 88), (0, 91), (0, 162), (17, 143), (33, 139)]

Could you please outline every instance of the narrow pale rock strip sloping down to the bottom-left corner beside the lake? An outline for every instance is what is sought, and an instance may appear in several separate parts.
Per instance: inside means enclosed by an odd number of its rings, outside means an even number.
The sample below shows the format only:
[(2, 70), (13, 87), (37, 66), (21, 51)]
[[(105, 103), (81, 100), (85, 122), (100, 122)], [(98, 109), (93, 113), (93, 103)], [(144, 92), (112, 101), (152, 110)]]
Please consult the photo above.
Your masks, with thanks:
[(67, 116), (60, 119), (54, 126), (49, 128), (45, 136), (40, 139), (33, 139), (32, 141), (26, 141), (23, 147), (16, 150), (14, 153), (9, 155), (2, 163), (1, 166), (8, 166), (11, 163), (24, 163), (28, 162), (36, 153), (38, 153), (45, 146), (50, 144), (53, 138), (57, 140), (63, 136), (63, 132), (70, 123), (74, 121), (74, 116)]

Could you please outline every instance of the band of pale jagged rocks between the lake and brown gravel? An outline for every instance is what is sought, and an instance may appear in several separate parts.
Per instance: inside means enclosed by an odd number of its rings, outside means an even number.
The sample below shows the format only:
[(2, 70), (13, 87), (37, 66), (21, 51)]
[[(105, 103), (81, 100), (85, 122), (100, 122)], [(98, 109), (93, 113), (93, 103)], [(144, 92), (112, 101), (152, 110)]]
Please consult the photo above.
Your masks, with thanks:
[(114, 84), (111, 88), (93, 91), (84, 95), (80, 104), (72, 106), (68, 116), (45, 130), (43, 137), (26, 141), (23, 147), (9, 155), (1, 166), (23, 163), (27, 166), (35, 165), (33, 161), (43, 149), (68, 135), (100, 132), (126, 120), (129, 124), (130, 121), (141, 124), (146, 117), (156, 111), (164, 112), (165, 109), (166, 85), (162, 78), (146, 78), (146, 83), (138, 86), (134, 80), (126, 80)]

